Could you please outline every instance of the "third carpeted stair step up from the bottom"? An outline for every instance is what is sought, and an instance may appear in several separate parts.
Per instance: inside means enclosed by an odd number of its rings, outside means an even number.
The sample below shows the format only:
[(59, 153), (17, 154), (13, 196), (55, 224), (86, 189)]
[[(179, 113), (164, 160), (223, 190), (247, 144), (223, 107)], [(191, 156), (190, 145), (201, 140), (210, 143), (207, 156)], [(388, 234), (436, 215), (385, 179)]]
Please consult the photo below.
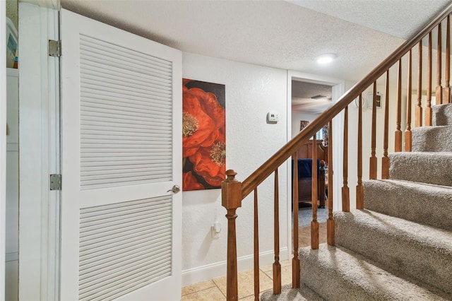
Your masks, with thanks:
[(452, 232), (367, 210), (339, 211), (334, 218), (336, 245), (394, 275), (452, 293)]

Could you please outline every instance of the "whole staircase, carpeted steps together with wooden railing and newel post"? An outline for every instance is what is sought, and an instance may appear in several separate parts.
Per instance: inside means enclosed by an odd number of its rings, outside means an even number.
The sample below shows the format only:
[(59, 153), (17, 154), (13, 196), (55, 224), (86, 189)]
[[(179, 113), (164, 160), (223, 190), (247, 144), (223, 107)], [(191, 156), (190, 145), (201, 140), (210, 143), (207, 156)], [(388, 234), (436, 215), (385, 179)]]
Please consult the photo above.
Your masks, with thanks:
[[(239, 218), (254, 219), (254, 300), (452, 300), (451, 32), (452, 2), (243, 182), (236, 179), (234, 170), (226, 171), (222, 206), (227, 211), (228, 301), (238, 300), (237, 208), (242, 207), (242, 201), (250, 194), (254, 194), (254, 215)], [(417, 61), (417, 68), (413, 69), (413, 61)], [(383, 95), (386, 95), (380, 111), (383, 114), (379, 114), (383, 118), (378, 119), (377, 81), (385, 83)], [(369, 90), (373, 95), (369, 101), (371, 119), (363, 126), (362, 97)], [(350, 126), (355, 126), (357, 136), (356, 140), (349, 140), (348, 107), (354, 101), (358, 104), (357, 124)], [(333, 162), (335, 143), (331, 133), (336, 129), (333, 118), (338, 114), (343, 114), (343, 149), (335, 152), (342, 153), (343, 158), (335, 158)], [(297, 160), (299, 147), (325, 124), (330, 129), (331, 143), (327, 244), (319, 245), (319, 221), (313, 206), (311, 246), (299, 249), (298, 206), (293, 206), (292, 284), (282, 288), (278, 168), (287, 164), (287, 160)], [(391, 133), (390, 124), (396, 126)], [(370, 138), (370, 147), (368, 144), (363, 147), (364, 135)], [(383, 142), (383, 156), (377, 157), (377, 139)], [(390, 140), (394, 142), (391, 149)], [(402, 152), (403, 144), (406, 153)], [(393, 153), (388, 155), (390, 151)], [(370, 153), (368, 173), (367, 170), (363, 173), (363, 160), (367, 160), (363, 158), (364, 152)], [(318, 159), (314, 151), (312, 158), (313, 162)], [(338, 183), (333, 170), (340, 165), (342, 181)], [(297, 175), (296, 167), (294, 175)], [(357, 168), (356, 178), (349, 179), (349, 167)], [(313, 165), (314, 201), (316, 172)], [(274, 181), (273, 290), (260, 295), (258, 188), (270, 177)], [(363, 182), (363, 179), (369, 180)], [(292, 181), (292, 203), (297, 204), (297, 177), (292, 177)], [(342, 187), (342, 195), (333, 196), (333, 181), (334, 187)], [(350, 199), (350, 189), (355, 189), (355, 185), (356, 199)], [(342, 201), (341, 208), (333, 208), (333, 199)], [(357, 210), (350, 211), (351, 202)]]

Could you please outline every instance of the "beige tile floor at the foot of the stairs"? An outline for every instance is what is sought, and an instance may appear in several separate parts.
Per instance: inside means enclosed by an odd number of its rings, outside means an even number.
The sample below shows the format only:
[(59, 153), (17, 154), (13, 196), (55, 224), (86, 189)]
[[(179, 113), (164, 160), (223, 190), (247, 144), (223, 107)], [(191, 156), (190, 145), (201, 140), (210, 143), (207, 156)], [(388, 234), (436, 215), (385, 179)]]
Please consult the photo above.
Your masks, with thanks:
[[(320, 243), (326, 242), (326, 223), (319, 224)], [(311, 228), (299, 228), (299, 247), (311, 244)], [(282, 285), (292, 283), (292, 260), (281, 261)], [(254, 273), (252, 270), (238, 274), (239, 300), (254, 300)], [(273, 266), (261, 266), (259, 269), (259, 283), (261, 293), (273, 288)], [(226, 276), (201, 283), (187, 285), (182, 288), (182, 301), (223, 301), (226, 299)]]

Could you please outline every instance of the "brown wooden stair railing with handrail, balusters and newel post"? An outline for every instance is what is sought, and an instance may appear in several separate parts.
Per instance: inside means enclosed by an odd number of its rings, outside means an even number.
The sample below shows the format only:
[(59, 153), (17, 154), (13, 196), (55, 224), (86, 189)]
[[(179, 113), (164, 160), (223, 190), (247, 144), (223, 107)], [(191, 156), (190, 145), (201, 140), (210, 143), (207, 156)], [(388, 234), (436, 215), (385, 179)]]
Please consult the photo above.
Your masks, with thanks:
[[(236, 210), (242, 206), (242, 200), (254, 191), (254, 296), (255, 300), (259, 297), (259, 263), (258, 263), (258, 196), (257, 189), (265, 179), (274, 175), (275, 194), (274, 194), (274, 252), (275, 261), (273, 263), (273, 293), (281, 293), (281, 266), (280, 266), (280, 245), (279, 245), (279, 196), (278, 196), (278, 167), (286, 163), (288, 159), (292, 158), (297, 162), (297, 149), (302, 146), (309, 138), (314, 137), (325, 124), (329, 124), (329, 145), (328, 147), (328, 220), (327, 220), (327, 243), (329, 245), (335, 244), (334, 229), (335, 224), (333, 220), (333, 117), (340, 112), (344, 112), (344, 149), (343, 149), (343, 187), (342, 187), (342, 210), (350, 211), (350, 188), (348, 187), (348, 166), (357, 167), (357, 186), (356, 186), (356, 208), (364, 208), (364, 187), (362, 185), (363, 176), (363, 122), (362, 122), (362, 99), (365, 90), (371, 88), (371, 145), (369, 158), (369, 179), (377, 179), (378, 158), (376, 155), (376, 133), (377, 133), (377, 117), (376, 117), (376, 100), (377, 100), (377, 81), (385, 81), (385, 99), (384, 99), (384, 117), (383, 117), (383, 156), (381, 158), (381, 179), (388, 179), (389, 177), (389, 158), (388, 158), (388, 141), (389, 141), (389, 104), (396, 101), (397, 110), (395, 120), (396, 131), (393, 134), (394, 151), (400, 152), (405, 146), (405, 151), (411, 151), (412, 146), (412, 126), (411, 120), (414, 115), (415, 126), (431, 126), (432, 125), (432, 73), (434, 66), (432, 64), (432, 37), (436, 31), (436, 87), (435, 97), (436, 104), (451, 102), (451, 86), (450, 78), (450, 14), (452, 13), (452, 4), (448, 5), (434, 20), (430, 21), (424, 26), (424, 29), (415, 34), (412, 38), (403, 43), (395, 52), (388, 58), (381, 62), (376, 68), (371, 71), (366, 77), (355, 84), (347, 91), (331, 108), (323, 112), (317, 119), (311, 122), (307, 127), (300, 131), (297, 136), (292, 138), (283, 148), (280, 148), (271, 158), (269, 158), (261, 167), (251, 173), (243, 182), (237, 181), (237, 175), (234, 170), (227, 170), (227, 179), (222, 182), (222, 206), (227, 210), (227, 300), (238, 299), (237, 289), (237, 235), (235, 220), (237, 218)], [(446, 43), (443, 52), (442, 30), (441, 27), (446, 26)], [(427, 44), (427, 62), (422, 59), (422, 52), (424, 52), (423, 40)], [(417, 46), (417, 50), (415, 49)], [(412, 103), (412, 52), (417, 52), (417, 100)], [(442, 63), (442, 56), (445, 56), (445, 63)], [(407, 64), (407, 100), (402, 100), (402, 63), (408, 60)], [(422, 66), (427, 65), (427, 83), (426, 83), (426, 105), (422, 107)], [(397, 86), (396, 86), (396, 100), (390, 100), (390, 69), (397, 68)], [(441, 85), (444, 74), (444, 87)], [(358, 117), (357, 117), (357, 163), (350, 164), (349, 150), (348, 150), (348, 121), (349, 110), (348, 105), (355, 99), (358, 101)], [(412, 110), (414, 106), (414, 110)], [(405, 108), (406, 126), (403, 133), (402, 109)], [(424, 119), (423, 119), (424, 110)], [(412, 112), (413, 111), (413, 112)], [(424, 122), (423, 122), (424, 121)], [(403, 137), (405, 137), (403, 141)], [(404, 142), (404, 143), (403, 143)], [(313, 148), (312, 158), (316, 158)], [(312, 201), (313, 204), (317, 199), (317, 167), (316, 160), (312, 160)], [(297, 164), (293, 165), (293, 175), (297, 175)], [(296, 177), (292, 184), (292, 201), (293, 201), (293, 258), (292, 258), (292, 288), (299, 288), (300, 285), (300, 269), (298, 257), (298, 182)], [(315, 201), (314, 201), (315, 200)], [(311, 221), (311, 248), (319, 248), (319, 222), (317, 221), (317, 206), (312, 206), (312, 221)]]

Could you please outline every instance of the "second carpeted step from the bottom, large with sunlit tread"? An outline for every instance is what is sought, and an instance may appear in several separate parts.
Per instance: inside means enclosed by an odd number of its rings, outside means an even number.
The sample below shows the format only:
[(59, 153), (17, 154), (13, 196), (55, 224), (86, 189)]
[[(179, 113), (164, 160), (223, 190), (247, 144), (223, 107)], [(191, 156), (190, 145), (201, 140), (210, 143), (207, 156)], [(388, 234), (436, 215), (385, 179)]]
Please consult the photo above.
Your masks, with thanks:
[(299, 250), (302, 283), (325, 300), (451, 300), (452, 295), (394, 276), (364, 256), (321, 244)]

